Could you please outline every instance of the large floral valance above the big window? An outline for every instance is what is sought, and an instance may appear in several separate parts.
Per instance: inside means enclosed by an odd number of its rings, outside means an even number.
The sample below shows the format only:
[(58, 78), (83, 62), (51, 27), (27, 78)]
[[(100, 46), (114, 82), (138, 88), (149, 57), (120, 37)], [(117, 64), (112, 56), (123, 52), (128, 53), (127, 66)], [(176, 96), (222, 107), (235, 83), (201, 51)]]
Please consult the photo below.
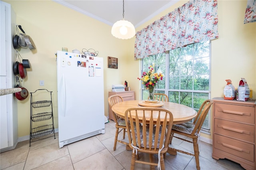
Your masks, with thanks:
[(190, 0), (136, 33), (134, 58), (216, 38), (217, 0)]

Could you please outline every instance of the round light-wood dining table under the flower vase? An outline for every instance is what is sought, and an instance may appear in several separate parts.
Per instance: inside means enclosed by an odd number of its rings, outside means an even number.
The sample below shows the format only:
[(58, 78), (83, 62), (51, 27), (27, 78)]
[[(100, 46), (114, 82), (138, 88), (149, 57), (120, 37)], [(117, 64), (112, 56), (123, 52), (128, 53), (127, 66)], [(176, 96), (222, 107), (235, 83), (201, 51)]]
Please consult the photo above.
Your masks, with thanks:
[[(138, 107), (140, 106), (138, 105), (138, 103), (141, 103), (141, 102), (142, 101), (139, 101), (139, 100), (131, 100), (131, 101), (123, 101), (120, 103), (116, 103), (115, 105), (112, 106), (112, 111), (116, 113), (118, 116), (124, 118), (124, 113), (127, 109), (132, 107)], [(168, 109), (169, 111), (172, 112), (173, 124), (185, 123), (185, 122), (191, 121), (194, 117), (196, 117), (197, 112), (191, 107), (181, 105), (178, 103), (167, 102), (167, 101), (162, 101), (162, 103), (164, 104), (162, 108)], [(129, 146), (126, 146), (127, 150), (128, 148)], [(172, 155), (177, 155), (177, 152), (170, 147), (168, 147), (167, 152)]]

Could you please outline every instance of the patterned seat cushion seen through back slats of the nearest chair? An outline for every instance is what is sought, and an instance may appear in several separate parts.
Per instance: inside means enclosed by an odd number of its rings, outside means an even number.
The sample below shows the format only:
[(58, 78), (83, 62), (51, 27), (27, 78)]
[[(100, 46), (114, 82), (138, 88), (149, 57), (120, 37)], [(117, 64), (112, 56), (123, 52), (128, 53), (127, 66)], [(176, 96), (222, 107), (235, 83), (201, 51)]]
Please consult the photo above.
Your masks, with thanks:
[[(134, 132), (135, 132), (135, 135), (136, 135), (136, 143), (138, 144), (138, 138), (137, 138), (137, 130), (136, 128), (134, 129)], [(153, 127), (153, 136), (152, 136), (152, 148), (155, 148), (154, 146), (154, 138), (155, 138), (155, 133), (156, 132), (156, 127), (154, 126)], [(161, 133), (162, 133), (162, 127), (160, 127), (160, 130), (159, 130), (159, 135), (158, 135), (158, 145), (156, 146), (156, 148), (159, 148), (159, 142), (160, 142), (160, 137), (161, 137)], [(149, 126), (147, 126), (146, 128), (146, 138), (147, 138), (147, 146), (146, 148), (149, 148), (149, 144), (148, 144), (148, 139), (149, 139)], [(164, 140), (165, 140), (165, 136), (164, 136)], [(140, 141), (141, 141), (141, 147), (144, 147), (144, 144), (143, 144), (143, 132), (142, 132), (142, 126), (140, 126)], [(162, 148), (162, 147), (161, 147)]]

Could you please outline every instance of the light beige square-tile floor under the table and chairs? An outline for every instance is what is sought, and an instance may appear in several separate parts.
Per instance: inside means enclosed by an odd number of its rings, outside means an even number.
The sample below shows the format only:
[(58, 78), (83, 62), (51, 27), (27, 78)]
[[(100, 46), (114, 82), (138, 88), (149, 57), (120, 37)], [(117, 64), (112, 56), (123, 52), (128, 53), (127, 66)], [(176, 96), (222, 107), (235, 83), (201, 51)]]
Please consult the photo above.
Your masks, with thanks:
[[(54, 137), (32, 142), (19, 142), (14, 150), (0, 154), (0, 169), (4, 170), (129, 170), (131, 152), (126, 146), (117, 142), (113, 150), (115, 136), (114, 121), (105, 124), (105, 134), (98, 134), (90, 138), (58, 146), (58, 133)], [(119, 135), (120, 139), (122, 134)], [(119, 137), (118, 136), (118, 137)], [(128, 136), (125, 140), (127, 141)], [(176, 138), (172, 147), (193, 151), (192, 144)], [(200, 142), (201, 170), (242, 170), (240, 164), (227, 159), (212, 158), (212, 145)], [(140, 154), (140, 159), (148, 158)], [(157, 156), (156, 159), (157, 161)], [(166, 154), (166, 170), (196, 170), (194, 156), (179, 153), (177, 156)], [(135, 164), (138, 170), (149, 169), (148, 165)], [(156, 168), (157, 169), (157, 168)]]

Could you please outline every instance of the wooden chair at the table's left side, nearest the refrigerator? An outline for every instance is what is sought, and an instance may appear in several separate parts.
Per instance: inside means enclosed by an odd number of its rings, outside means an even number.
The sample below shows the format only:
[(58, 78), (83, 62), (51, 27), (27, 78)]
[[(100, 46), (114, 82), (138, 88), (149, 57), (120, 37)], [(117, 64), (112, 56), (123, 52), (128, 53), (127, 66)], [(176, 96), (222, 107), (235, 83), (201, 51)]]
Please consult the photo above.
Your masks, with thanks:
[[(114, 104), (116, 103), (119, 103), (119, 102), (122, 102), (124, 101), (123, 98), (119, 95), (112, 95), (110, 97), (108, 97), (108, 104), (110, 107), (112, 107)], [(127, 142), (124, 142), (122, 140), (118, 140), (118, 134), (123, 130), (124, 133), (123, 133), (123, 139), (125, 138), (125, 132), (127, 131), (126, 130), (126, 123), (125, 123), (125, 120), (121, 117), (119, 117), (118, 115), (116, 115), (116, 113), (112, 112), (113, 113), (113, 117), (114, 117), (114, 122), (115, 122), (115, 126), (116, 126), (116, 135), (115, 135), (115, 141), (114, 141), (114, 150), (116, 150), (116, 143), (117, 142), (120, 142), (120, 143), (123, 143), (123, 144), (126, 144), (128, 145)], [(119, 128), (121, 128), (121, 130), (119, 130)]]

